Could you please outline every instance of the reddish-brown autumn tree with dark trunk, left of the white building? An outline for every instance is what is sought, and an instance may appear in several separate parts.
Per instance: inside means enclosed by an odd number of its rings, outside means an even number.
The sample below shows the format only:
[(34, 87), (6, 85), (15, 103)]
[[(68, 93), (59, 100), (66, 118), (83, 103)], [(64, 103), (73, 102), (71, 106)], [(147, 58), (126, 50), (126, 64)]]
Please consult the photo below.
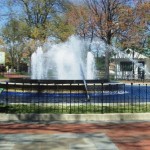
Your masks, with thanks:
[(85, 0), (88, 10), (86, 6), (84, 9), (80, 9), (83, 6), (72, 9), (74, 12), (72, 18), (75, 19), (74, 23), (77, 24), (77, 31), (80, 31), (84, 37), (90, 37), (91, 39), (97, 37), (106, 43), (105, 77), (108, 80), (111, 57), (110, 45), (112, 45), (114, 38), (122, 44), (133, 46), (133, 44), (141, 43), (144, 36), (144, 19), (142, 19), (142, 13), (137, 13), (141, 3), (136, 3), (136, 6), (133, 7), (128, 2), (130, 1)]

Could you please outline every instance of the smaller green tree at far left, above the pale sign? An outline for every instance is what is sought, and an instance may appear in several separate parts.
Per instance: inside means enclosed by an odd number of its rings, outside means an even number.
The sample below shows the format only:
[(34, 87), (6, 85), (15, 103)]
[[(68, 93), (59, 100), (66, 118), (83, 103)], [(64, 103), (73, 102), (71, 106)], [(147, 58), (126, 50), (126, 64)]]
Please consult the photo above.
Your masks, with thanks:
[(2, 30), (2, 36), (6, 44), (6, 51), (9, 54), (11, 69), (19, 71), (21, 58), (24, 55), (26, 43), (26, 23), (20, 20), (11, 19)]

